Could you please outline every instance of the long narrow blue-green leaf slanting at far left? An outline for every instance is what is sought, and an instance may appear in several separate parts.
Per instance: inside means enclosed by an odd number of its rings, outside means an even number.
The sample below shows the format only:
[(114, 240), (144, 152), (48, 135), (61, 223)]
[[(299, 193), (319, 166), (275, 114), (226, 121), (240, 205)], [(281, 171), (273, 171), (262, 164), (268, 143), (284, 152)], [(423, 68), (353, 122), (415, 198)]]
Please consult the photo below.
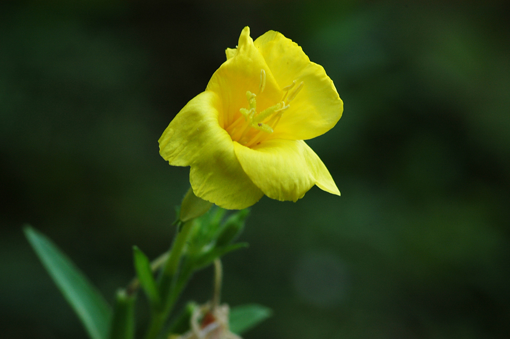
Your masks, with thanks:
[(92, 339), (106, 339), (112, 311), (103, 297), (73, 262), (46, 236), (30, 226), (25, 236), (60, 292), (82, 321)]

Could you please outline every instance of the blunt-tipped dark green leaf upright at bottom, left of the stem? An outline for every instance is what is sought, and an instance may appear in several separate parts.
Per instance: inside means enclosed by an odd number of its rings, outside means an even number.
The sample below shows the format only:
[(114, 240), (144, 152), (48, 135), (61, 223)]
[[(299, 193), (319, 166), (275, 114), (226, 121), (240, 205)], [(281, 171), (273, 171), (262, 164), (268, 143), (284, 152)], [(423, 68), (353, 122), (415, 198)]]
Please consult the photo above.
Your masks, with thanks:
[(110, 326), (110, 339), (133, 339), (135, 334), (135, 297), (123, 289), (117, 291), (115, 310)]

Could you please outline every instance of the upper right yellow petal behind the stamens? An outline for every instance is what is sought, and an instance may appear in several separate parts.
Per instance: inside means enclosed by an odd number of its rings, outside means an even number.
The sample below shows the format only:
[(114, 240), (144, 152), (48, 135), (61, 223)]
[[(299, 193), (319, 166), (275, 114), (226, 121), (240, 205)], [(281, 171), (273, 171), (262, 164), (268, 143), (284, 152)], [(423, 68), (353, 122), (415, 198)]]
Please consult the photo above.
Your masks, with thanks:
[[(281, 33), (269, 31), (254, 45), (280, 86), (303, 82), (271, 138), (311, 139), (333, 128), (343, 112), (343, 102), (321, 65), (310, 61), (297, 43)], [(292, 91), (292, 90), (291, 90)]]

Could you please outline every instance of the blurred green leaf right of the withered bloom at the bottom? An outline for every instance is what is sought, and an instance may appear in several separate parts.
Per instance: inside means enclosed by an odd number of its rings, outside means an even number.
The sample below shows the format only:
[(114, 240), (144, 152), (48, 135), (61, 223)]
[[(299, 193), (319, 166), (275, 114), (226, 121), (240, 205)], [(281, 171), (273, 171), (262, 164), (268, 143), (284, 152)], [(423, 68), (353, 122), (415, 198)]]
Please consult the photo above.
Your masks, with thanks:
[(230, 330), (243, 334), (250, 328), (271, 317), (272, 311), (258, 304), (237, 306), (230, 310)]

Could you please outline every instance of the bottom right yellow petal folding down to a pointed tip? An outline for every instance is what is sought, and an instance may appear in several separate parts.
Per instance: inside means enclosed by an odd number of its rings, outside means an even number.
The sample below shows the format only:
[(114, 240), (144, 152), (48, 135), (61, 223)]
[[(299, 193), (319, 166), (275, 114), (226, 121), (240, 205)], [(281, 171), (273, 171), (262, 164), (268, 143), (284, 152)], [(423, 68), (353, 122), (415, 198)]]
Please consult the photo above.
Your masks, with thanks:
[(324, 163), (302, 140), (271, 139), (253, 149), (234, 142), (234, 149), (248, 177), (269, 198), (296, 201), (313, 185), (340, 195)]

